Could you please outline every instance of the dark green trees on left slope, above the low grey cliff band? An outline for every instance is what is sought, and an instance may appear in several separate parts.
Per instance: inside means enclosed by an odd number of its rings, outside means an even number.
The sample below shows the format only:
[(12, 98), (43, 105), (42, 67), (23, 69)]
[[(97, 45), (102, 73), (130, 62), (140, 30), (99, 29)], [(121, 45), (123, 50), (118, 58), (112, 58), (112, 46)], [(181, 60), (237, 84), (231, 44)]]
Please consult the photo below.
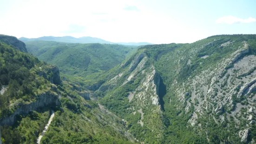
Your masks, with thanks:
[[(20, 52), (0, 43), (0, 118), (13, 113), (19, 106), (36, 100), (35, 95), (49, 91), (49, 81), (37, 74), (48, 66), (30, 54)], [(15, 105), (13, 105), (15, 104)]]

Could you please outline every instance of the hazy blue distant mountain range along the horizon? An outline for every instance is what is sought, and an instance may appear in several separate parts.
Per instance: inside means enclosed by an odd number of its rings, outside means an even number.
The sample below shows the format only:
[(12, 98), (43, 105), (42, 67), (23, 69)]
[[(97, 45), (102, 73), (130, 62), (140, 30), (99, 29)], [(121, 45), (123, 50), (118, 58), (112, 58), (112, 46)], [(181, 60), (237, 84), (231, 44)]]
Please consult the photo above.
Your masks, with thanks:
[(81, 43), (81, 44), (89, 44), (89, 43), (100, 43), (100, 44), (120, 44), (126, 46), (143, 46), (143, 45), (152, 45), (151, 43), (147, 42), (120, 42), (120, 43), (113, 43), (110, 41), (106, 41), (104, 39), (93, 38), (93, 37), (80, 37), (74, 38), (72, 36), (64, 36), (64, 37), (53, 37), (53, 36), (44, 36), (39, 38), (25, 38), (21, 37), (19, 40), (26, 42), (26, 41), (35, 41), (35, 40), (45, 40), (45, 41), (56, 41), (56, 42), (66, 42), (66, 43)]

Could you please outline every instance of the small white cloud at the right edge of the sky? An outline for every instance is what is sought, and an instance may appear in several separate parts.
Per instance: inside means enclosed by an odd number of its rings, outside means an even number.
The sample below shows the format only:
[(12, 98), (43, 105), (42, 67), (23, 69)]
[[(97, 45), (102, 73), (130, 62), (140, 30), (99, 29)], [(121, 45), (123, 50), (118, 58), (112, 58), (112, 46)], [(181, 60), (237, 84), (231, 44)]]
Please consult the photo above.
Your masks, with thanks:
[(217, 24), (234, 24), (234, 23), (251, 23), (256, 22), (256, 19), (249, 17), (248, 19), (241, 19), (235, 16), (224, 16), (216, 20)]

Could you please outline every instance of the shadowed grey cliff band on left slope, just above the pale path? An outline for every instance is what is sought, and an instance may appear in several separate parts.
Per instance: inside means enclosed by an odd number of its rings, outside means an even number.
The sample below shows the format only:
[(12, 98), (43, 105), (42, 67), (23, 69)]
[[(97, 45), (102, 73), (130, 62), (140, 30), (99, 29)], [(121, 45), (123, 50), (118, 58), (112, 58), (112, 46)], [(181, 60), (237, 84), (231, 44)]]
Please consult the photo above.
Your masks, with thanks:
[(30, 104), (21, 105), (11, 116), (1, 119), (0, 125), (13, 125), (17, 115), (26, 115), (30, 111), (36, 111), (42, 107), (58, 105), (60, 105), (58, 95), (51, 92), (42, 93), (38, 96), (36, 101), (31, 102)]

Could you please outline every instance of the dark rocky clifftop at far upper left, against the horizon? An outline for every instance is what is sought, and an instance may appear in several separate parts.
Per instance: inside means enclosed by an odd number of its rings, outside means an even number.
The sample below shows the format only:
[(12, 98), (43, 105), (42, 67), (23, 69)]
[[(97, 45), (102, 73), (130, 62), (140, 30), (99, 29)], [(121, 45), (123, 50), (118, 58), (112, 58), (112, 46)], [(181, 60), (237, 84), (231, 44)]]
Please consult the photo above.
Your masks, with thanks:
[(27, 52), (25, 43), (16, 37), (0, 34), (0, 41), (6, 43), (7, 45), (13, 46), (15, 49), (20, 50), (21, 52)]

